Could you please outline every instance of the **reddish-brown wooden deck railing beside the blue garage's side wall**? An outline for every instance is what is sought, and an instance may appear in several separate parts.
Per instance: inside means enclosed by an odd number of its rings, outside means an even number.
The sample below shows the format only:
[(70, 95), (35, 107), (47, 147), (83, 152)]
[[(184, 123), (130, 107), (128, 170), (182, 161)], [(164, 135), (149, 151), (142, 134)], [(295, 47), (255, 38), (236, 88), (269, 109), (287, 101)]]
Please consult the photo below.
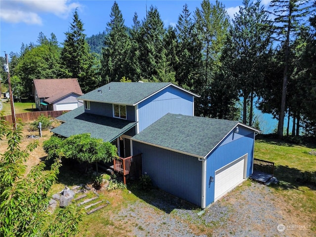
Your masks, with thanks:
[(114, 159), (114, 171), (123, 175), (126, 184), (126, 175), (140, 177), (142, 173), (142, 154), (131, 157)]

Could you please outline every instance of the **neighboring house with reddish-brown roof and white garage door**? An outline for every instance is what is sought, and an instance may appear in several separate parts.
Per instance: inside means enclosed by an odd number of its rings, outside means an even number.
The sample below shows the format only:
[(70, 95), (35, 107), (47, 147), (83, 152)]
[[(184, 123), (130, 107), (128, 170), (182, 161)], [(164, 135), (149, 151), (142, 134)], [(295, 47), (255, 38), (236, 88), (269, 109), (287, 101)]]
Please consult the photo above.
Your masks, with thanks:
[(82, 95), (78, 80), (34, 79), (33, 95), (36, 108), (46, 110), (73, 110), (83, 105), (77, 98)]

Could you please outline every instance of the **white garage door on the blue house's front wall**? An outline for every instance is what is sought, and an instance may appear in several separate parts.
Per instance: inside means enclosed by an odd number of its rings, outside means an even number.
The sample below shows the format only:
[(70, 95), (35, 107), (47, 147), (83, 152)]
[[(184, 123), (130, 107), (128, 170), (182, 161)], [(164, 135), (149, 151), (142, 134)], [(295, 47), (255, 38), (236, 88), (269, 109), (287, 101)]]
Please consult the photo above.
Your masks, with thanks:
[(214, 201), (224, 196), (243, 181), (246, 158), (247, 155), (215, 171)]

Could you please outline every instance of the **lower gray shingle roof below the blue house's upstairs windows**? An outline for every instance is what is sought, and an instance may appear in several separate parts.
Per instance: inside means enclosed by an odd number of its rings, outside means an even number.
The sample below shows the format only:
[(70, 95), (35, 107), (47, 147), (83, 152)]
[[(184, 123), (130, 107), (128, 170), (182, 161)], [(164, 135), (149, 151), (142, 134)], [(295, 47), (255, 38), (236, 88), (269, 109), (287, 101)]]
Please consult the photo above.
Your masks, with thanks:
[(83, 106), (72, 110), (57, 119), (67, 121), (51, 131), (64, 137), (82, 133), (90, 133), (91, 137), (112, 142), (118, 136), (131, 129), (137, 122), (120, 118), (110, 118), (84, 113)]

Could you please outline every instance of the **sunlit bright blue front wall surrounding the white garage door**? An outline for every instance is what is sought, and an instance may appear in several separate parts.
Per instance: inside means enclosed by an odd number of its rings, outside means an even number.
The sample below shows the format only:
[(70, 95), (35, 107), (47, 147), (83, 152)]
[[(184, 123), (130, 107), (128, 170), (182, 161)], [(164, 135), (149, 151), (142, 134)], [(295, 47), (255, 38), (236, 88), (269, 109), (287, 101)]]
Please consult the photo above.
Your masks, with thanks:
[(215, 177), (215, 170), (248, 154), (246, 177), (252, 172), (254, 132), (239, 127), (239, 133), (230, 133), (225, 140), (207, 157), (206, 168), (206, 206), (214, 202), (215, 182), (208, 183), (210, 176)]

